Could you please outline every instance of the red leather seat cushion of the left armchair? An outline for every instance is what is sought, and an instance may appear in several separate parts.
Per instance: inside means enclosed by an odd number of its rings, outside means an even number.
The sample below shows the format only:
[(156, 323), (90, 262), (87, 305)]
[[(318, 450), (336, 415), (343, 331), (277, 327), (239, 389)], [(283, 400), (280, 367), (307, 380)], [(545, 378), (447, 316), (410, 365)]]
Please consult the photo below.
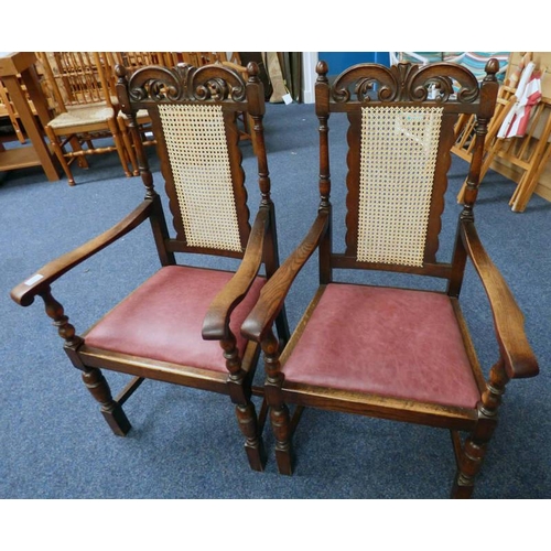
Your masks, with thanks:
[[(233, 272), (202, 268), (161, 268), (90, 329), (86, 344), (143, 358), (226, 371), (219, 343), (204, 341), (201, 332), (212, 300), (231, 277)], [(257, 278), (231, 314), (230, 328), (240, 354), (247, 342), (239, 329), (263, 283), (262, 278)]]

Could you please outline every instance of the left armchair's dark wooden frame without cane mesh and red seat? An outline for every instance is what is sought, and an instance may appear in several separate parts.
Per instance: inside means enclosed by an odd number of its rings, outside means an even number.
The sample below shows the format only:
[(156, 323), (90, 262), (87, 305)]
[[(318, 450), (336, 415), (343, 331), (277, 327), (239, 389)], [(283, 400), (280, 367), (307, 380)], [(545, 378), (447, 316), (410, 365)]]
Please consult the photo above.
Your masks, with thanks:
[[(266, 461), (261, 439), (262, 419), (258, 419), (251, 401), (252, 377), (259, 347), (255, 342), (248, 343), (245, 353), (240, 355), (236, 347), (236, 336), (229, 326), (233, 312), (247, 295), (261, 266), (263, 264), (268, 279), (279, 266), (276, 214), (270, 195), (271, 183), (263, 142), (263, 90), (257, 77), (258, 68), (253, 64), (249, 66), (247, 83), (234, 71), (220, 66), (206, 66), (201, 69), (184, 66), (172, 71), (159, 66), (144, 67), (133, 73), (130, 78), (125, 67), (119, 66), (117, 73), (120, 107), (129, 118), (130, 131), (139, 132), (136, 114), (141, 109), (147, 109), (153, 121), (162, 174), (166, 181), (166, 188), (171, 190), (170, 194), (174, 192), (174, 184), (171, 162), (165, 150), (166, 133), (160, 120), (162, 106), (219, 107), (225, 114), (231, 164), (238, 176), (242, 169), (240, 169), (241, 156), (237, 145), (235, 114), (245, 111), (252, 117), (258, 136), (258, 184), (261, 194), (255, 222), (252, 226), (249, 225), (247, 194), (242, 186), (242, 179), (239, 182), (238, 177), (234, 185), (237, 186), (236, 195), (239, 195), (236, 198), (236, 208), (240, 220), (240, 250), (219, 250), (191, 245), (188, 236), (182, 233), (181, 223), (177, 222), (176, 216), (174, 226), (177, 235), (175, 238), (170, 237), (161, 197), (153, 186), (153, 176), (145, 151), (141, 142), (136, 140), (140, 173), (145, 186), (144, 201), (102, 235), (41, 268), (34, 276), (14, 288), (11, 296), (23, 306), (32, 304), (36, 296), (43, 299), (46, 314), (57, 327), (67, 356), (74, 367), (82, 371), (86, 387), (99, 402), (101, 413), (115, 434), (125, 435), (130, 430), (130, 422), (122, 410), (122, 404), (144, 378), (219, 392), (228, 395), (235, 404), (238, 424), (246, 439), (245, 447), (250, 466), (261, 471)], [(174, 204), (173, 196), (170, 197), (170, 202), (172, 213), (175, 214), (176, 204)], [(54, 299), (52, 284), (63, 274), (121, 239), (145, 220), (151, 223), (162, 267), (173, 267), (176, 264), (175, 253), (186, 252), (240, 259), (237, 271), (227, 285), (220, 289), (208, 309), (203, 328), (204, 339), (219, 343), (220, 358), (225, 358), (227, 372), (159, 361), (89, 346), (86, 342), (88, 332), (77, 335), (75, 327), (64, 313), (64, 307)], [(277, 325), (280, 338), (287, 342), (289, 328), (284, 311), (278, 315)], [(197, 337), (201, 341), (201, 335)], [(114, 398), (102, 369), (128, 374), (133, 378), (122, 392)]]

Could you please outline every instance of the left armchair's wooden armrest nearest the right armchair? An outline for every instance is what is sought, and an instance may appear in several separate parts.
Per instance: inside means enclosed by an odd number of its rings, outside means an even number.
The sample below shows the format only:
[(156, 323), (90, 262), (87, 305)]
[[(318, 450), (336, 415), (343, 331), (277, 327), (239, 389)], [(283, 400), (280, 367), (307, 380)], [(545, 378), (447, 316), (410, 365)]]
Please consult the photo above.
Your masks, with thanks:
[(208, 307), (202, 332), (205, 341), (228, 338), (230, 314), (249, 291), (262, 263), (264, 236), (269, 223), (270, 208), (260, 207), (239, 268)]

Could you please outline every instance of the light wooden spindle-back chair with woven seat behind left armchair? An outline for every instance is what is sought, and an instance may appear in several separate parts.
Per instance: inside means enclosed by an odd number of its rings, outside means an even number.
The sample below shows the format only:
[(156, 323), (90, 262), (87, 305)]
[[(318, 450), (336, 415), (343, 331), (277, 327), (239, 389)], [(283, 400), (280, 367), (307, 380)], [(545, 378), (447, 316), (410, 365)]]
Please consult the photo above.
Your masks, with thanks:
[[(69, 185), (75, 185), (72, 162), (78, 159), (80, 166), (88, 168), (86, 156), (94, 154), (117, 152), (125, 174), (131, 176), (106, 73), (107, 55), (99, 52), (37, 52), (36, 55), (56, 109), (56, 116), (45, 127), (46, 136)], [(97, 140), (105, 138), (111, 142), (96, 145)]]

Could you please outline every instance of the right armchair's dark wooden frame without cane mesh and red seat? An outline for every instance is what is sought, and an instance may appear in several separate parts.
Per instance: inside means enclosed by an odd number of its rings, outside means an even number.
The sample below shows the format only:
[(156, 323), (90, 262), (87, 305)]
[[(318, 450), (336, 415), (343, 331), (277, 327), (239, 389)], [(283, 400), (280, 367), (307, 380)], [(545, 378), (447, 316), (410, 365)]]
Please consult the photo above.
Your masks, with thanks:
[[(474, 223), (474, 204), (479, 183), (479, 171), (484, 153), (484, 138), (494, 112), (498, 84), (495, 73), (497, 61), (487, 64), (487, 76), (478, 86), (476, 78), (467, 69), (453, 64), (434, 64), (419, 67), (408, 63), (390, 69), (375, 64), (356, 65), (338, 76), (333, 86), (327, 79), (327, 65), (317, 65), (315, 85), (315, 109), (320, 120), (320, 207), (318, 215), (301, 245), (288, 257), (260, 294), (256, 307), (245, 321), (242, 333), (247, 338), (261, 344), (266, 365), (266, 397), (270, 407), (272, 430), (276, 436), (276, 457), (282, 474), (292, 473), (292, 434), (296, 420), (291, 419), (290, 404), (295, 404), (300, 415), (304, 407), (357, 413), (368, 417), (407, 421), (430, 426), (447, 428), (452, 432), (453, 446), (457, 460), (453, 497), (471, 497), (475, 476), (478, 473), (487, 443), (497, 424), (497, 411), (506, 383), (512, 378), (531, 377), (538, 372), (538, 364), (528, 344), (523, 329), (523, 317), (511, 292), (491, 262), (478, 238)], [(452, 79), (463, 86), (457, 99), (453, 99)], [(374, 91), (372, 84), (377, 91)], [(429, 100), (428, 88), (437, 83), (442, 95)], [(352, 99), (350, 90), (356, 90), (357, 99)], [(424, 93), (422, 90), (425, 90)], [(439, 161), (435, 170), (432, 207), (429, 220), (425, 257), (421, 267), (402, 264), (370, 263), (358, 261), (354, 255), (357, 216), (354, 205), (357, 201), (355, 171), (358, 161), (356, 145), (360, 130), (355, 122), (363, 106), (403, 107), (441, 106), (443, 108), (442, 133)], [(333, 251), (332, 204), (329, 176), (328, 118), (331, 114), (346, 114), (350, 121), (348, 131), (348, 196), (347, 196), (347, 249), (345, 253)], [(477, 118), (475, 144), (465, 193), (465, 205), (457, 226), (455, 249), (450, 263), (435, 260), (440, 216), (443, 209), (443, 194), (446, 187), (446, 172), (450, 166), (450, 149), (454, 142), (454, 122), (457, 116), (475, 115)], [(352, 208), (352, 209), (350, 209)], [(317, 251), (320, 262), (320, 288), (307, 306), (303, 318), (291, 335), (291, 339), (280, 354), (280, 344), (272, 332), (272, 323), (284, 304), (293, 280), (307, 259)], [(485, 380), (476, 359), (475, 349), (468, 336), (466, 323), (460, 309), (460, 291), (467, 260), (473, 262), (476, 273), (486, 290), (494, 314), (495, 329), (499, 343), (499, 357)], [(463, 343), (479, 390), (479, 401), (474, 408), (446, 407), (440, 403), (403, 400), (377, 393), (341, 390), (331, 386), (320, 387), (285, 379), (284, 366), (293, 355), (293, 349), (304, 334), (321, 296), (334, 283), (335, 269), (370, 269), (408, 272), (418, 276), (442, 278), (447, 281), (445, 295), (449, 298)], [(320, 314), (322, 315), (322, 314)], [(318, 317), (320, 318), (320, 317)], [(352, 337), (352, 336), (350, 336)], [(344, 346), (343, 343), (341, 345)], [(352, 346), (352, 342), (348, 343)], [(358, 357), (368, 350), (358, 350)], [(337, 366), (335, 366), (336, 368)], [(463, 441), (460, 431), (468, 434)]]

